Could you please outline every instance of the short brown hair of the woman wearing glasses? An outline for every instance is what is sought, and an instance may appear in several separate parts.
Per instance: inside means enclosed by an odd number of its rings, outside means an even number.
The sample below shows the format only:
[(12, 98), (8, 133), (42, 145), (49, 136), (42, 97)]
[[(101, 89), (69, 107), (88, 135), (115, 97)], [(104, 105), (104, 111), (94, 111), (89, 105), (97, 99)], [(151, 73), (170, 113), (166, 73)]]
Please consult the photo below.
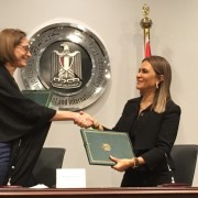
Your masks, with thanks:
[(19, 29), (4, 29), (0, 32), (0, 62), (3, 64), (15, 62), (14, 48), (26, 34)]

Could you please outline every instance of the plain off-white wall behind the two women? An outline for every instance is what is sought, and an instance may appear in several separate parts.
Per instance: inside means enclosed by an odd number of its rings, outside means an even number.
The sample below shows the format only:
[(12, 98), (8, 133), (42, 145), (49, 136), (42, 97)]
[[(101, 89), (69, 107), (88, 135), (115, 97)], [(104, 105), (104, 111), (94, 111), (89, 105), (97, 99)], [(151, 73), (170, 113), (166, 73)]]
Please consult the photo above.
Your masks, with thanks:
[[(198, 1), (197, 0), (0, 0), (0, 30), (19, 28), (31, 34), (59, 19), (78, 21), (94, 30), (109, 53), (111, 82), (106, 94), (86, 111), (111, 128), (125, 101), (138, 96), (135, 73), (143, 58), (142, 7), (150, 6), (152, 53), (166, 57), (173, 68), (172, 95), (183, 114), (176, 143), (198, 144)], [(15, 78), (23, 88), (20, 72)], [(87, 187), (117, 187), (122, 174), (110, 167), (90, 166), (79, 128), (53, 123), (46, 146), (66, 147), (64, 167), (86, 168)], [(184, 156), (185, 161), (185, 156)], [(194, 186), (198, 185), (195, 177)]]

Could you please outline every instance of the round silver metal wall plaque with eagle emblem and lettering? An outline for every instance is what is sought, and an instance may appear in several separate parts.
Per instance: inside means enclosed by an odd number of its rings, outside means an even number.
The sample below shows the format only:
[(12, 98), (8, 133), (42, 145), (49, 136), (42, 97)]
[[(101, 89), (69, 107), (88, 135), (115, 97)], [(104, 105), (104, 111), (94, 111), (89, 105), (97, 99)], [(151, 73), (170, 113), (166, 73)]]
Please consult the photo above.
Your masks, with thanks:
[(51, 107), (80, 110), (103, 94), (110, 79), (110, 63), (101, 41), (89, 30), (72, 23), (55, 23), (30, 38), (28, 66), (21, 69), (29, 90), (52, 90)]

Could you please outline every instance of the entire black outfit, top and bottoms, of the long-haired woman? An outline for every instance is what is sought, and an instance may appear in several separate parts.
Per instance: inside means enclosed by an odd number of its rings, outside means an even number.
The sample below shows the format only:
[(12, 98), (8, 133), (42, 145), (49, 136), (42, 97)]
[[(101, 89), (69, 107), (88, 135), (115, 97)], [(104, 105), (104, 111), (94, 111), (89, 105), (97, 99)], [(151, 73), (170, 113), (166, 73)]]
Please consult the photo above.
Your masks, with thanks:
[[(148, 107), (139, 116), (140, 101), (141, 98), (129, 100), (120, 120), (112, 129), (128, 132), (135, 155), (142, 156), (146, 163), (139, 168), (128, 169), (122, 180), (123, 186), (156, 186), (168, 183), (172, 173), (168, 170), (167, 163), (174, 169), (170, 150), (177, 136), (180, 108), (170, 100), (163, 113), (156, 113)], [(134, 172), (143, 175), (135, 176)], [(140, 177), (142, 177), (141, 182), (138, 180)], [(148, 179), (146, 180), (145, 177)]]

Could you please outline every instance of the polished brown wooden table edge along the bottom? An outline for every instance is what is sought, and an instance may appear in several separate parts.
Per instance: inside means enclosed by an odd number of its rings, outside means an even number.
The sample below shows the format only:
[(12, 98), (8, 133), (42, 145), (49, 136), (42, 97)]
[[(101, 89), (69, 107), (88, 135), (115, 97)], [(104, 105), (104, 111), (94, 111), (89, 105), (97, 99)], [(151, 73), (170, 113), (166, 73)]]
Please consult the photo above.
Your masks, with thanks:
[(0, 188), (8, 198), (198, 198), (198, 187), (157, 188)]

